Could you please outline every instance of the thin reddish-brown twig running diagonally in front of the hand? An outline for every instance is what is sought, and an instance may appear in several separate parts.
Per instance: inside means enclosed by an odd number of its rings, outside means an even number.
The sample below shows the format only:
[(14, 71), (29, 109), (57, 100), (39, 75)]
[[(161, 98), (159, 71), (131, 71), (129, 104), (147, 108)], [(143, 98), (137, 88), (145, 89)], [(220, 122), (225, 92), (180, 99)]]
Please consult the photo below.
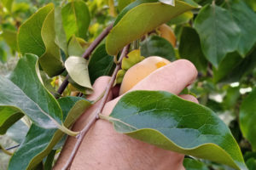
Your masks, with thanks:
[(96, 122), (96, 120), (99, 118), (99, 114), (102, 112), (103, 110), (103, 107), (104, 105), (106, 104), (107, 102), (107, 99), (108, 99), (108, 94), (111, 90), (111, 88), (113, 87), (113, 82), (115, 80), (115, 77), (117, 75), (117, 72), (119, 71), (121, 65), (121, 61), (122, 59), (126, 56), (126, 54), (128, 53), (128, 50), (129, 50), (129, 47), (130, 45), (127, 45), (125, 46), (125, 48), (123, 49), (122, 51), (122, 54), (119, 58), (119, 63), (116, 65), (114, 71), (113, 71), (113, 75), (110, 79), (110, 82), (108, 82), (108, 86), (106, 88), (106, 93), (104, 94), (102, 100), (101, 100), (101, 103), (97, 109), (97, 111), (94, 113), (94, 116), (91, 118), (90, 122), (88, 122), (88, 124), (83, 128), (83, 130), (79, 133), (79, 135), (77, 136), (78, 140), (77, 140), (77, 143), (75, 144), (74, 148), (73, 148), (73, 151), (71, 153), (71, 156), (69, 156), (69, 159), (67, 160), (67, 163), (65, 165), (65, 167), (63, 167), (62, 169), (63, 170), (67, 170), (69, 169), (69, 167), (71, 166), (72, 162), (73, 162), (73, 159), (74, 157), (76, 156), (78, 150), (79, 150), (79, 147), (84, 139), (84, 136), (85, 134), (89, 131), (90, 127)]

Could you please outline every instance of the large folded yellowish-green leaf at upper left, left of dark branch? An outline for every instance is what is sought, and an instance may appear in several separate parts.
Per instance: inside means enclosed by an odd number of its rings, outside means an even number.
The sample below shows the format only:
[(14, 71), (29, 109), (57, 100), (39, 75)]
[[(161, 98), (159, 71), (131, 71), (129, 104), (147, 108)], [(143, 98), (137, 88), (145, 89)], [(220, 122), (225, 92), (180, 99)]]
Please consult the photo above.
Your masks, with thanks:
[(60, 48), (55, 44), (55, 9), (52, 3), (40, 8), (18, 32), (18, 46), (21, 54), (39, 56), (39, 62), (49, 77), (63, 71)]

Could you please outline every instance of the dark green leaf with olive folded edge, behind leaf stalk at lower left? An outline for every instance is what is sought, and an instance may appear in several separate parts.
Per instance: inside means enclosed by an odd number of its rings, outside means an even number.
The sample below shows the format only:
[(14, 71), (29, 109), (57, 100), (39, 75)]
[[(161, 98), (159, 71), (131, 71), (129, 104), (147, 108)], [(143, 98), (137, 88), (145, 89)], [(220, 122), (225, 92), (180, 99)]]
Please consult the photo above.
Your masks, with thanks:
[[(90, 106), (90, 102), (77, 97), (58, 99), (63, 111), (64, 125), (71, 127), (84, 110)], [(32, 124), (26, 135), (25, 141), (15, 151), (9, 161), (9, 170), (32, 169), (47, 156), (60, 139), (63, 137), (58, 129), (44, 129)]]

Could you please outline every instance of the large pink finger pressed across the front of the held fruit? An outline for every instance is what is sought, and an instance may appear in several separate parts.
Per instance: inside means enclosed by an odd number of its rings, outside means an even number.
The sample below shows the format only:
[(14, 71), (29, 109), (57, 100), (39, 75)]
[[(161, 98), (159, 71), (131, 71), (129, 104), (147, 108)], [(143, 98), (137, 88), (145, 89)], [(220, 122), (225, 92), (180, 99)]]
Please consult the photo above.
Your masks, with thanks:
[(137, 83), (132, 90), (162, 90), (179, 94), (197, 77), (195, 65), (189, 60), (179, 59), (151, 73)]

